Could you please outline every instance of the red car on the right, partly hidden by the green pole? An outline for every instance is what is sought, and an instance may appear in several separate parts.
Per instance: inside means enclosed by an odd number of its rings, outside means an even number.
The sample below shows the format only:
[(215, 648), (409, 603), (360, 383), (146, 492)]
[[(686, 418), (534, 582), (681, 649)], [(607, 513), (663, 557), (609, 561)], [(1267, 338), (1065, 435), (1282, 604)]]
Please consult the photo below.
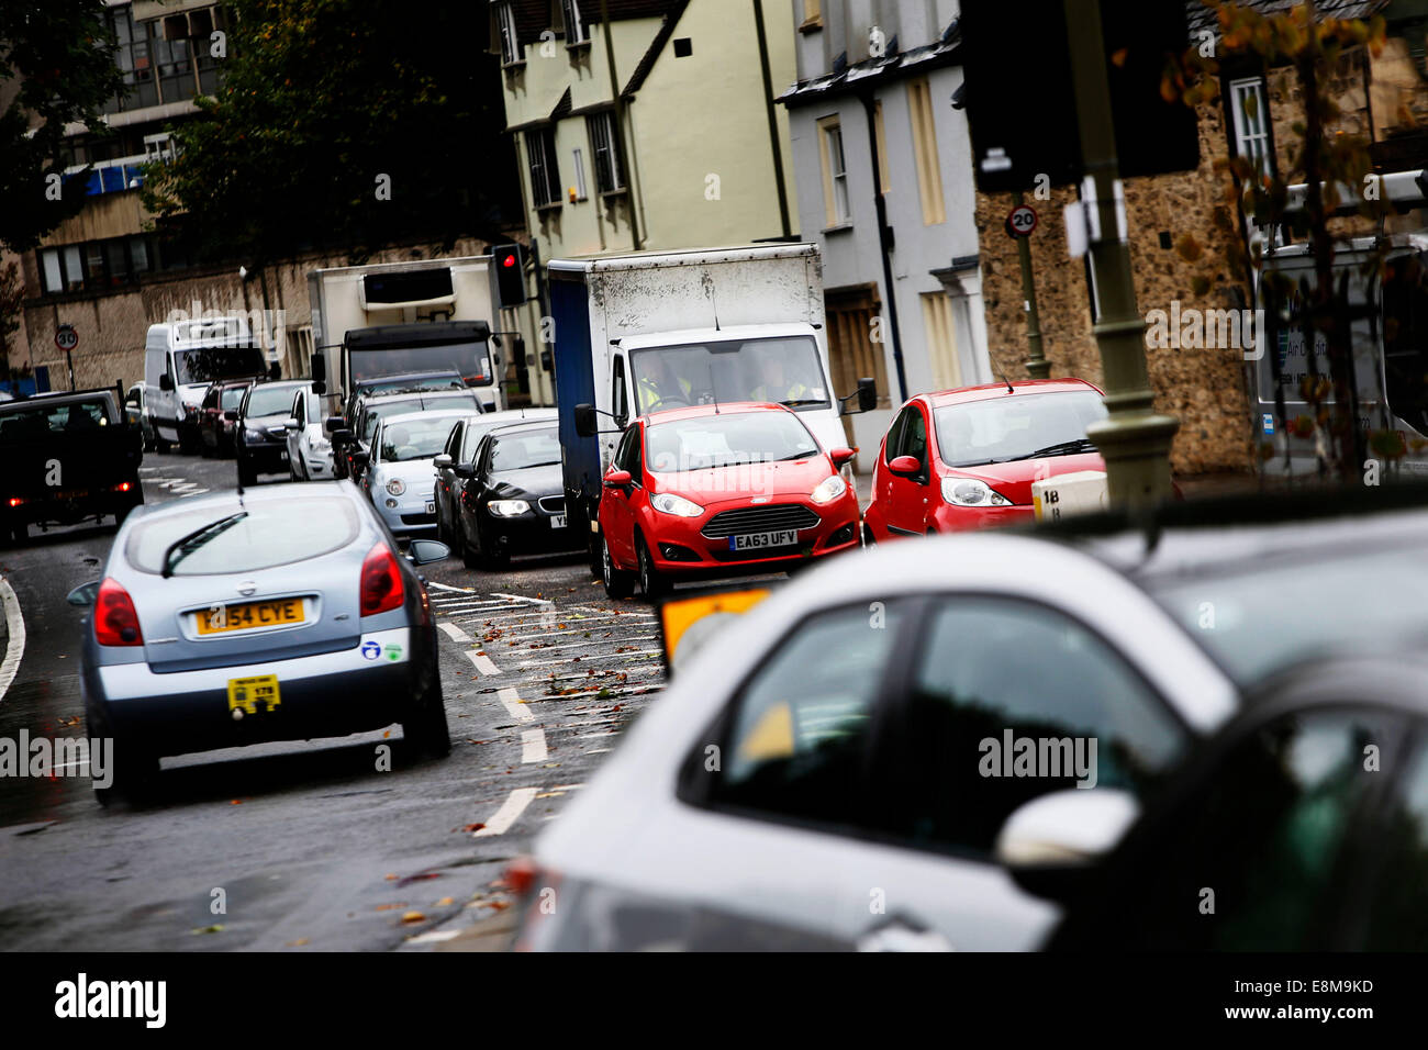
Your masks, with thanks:
[(1107, 416), (1080, 379), (918, 394), (883, 437), (864, 514), (871, 541), (1010, 524), (1034, 516), (1031, 483), (1105, 470), (1087, 439)]

